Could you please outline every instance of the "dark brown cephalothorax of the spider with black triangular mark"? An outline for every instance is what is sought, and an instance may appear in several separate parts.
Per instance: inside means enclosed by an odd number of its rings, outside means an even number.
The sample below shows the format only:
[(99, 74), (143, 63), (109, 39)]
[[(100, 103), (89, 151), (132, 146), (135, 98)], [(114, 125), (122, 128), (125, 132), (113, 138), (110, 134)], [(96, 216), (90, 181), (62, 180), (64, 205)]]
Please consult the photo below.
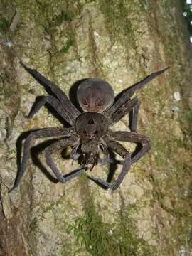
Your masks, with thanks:
[(100, 137), (108, 129), (108, 120), (103, 114), (87, 112), (80, 114), (75, 122), (75, 131), (80, 135), (82, 152), (98, 152)]

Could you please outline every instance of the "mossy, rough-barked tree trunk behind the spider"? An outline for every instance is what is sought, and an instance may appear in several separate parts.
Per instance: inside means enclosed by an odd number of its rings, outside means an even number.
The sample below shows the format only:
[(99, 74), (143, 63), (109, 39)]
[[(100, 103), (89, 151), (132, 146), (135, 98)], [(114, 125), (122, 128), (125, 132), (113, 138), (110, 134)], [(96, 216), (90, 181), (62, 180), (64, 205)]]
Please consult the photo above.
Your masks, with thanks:
[[(1, 0), (0, 32), (0, 255), (191, 255), (191, 49), (180, 2)], [(23, 132), (60, 125), (46, 107), (26, 119), (47, 92), (20, 60), (72, 100), (70, 88), (83, 78), (103, 78), (117, 94), (171, 67), (137, 92), (137, 131), (151, 137), (152, 149), (117, 191), (84, 174), (54, 183), (37, 140), (20, 186), (8, 193)], [(124, 117), (115, 129), (127, 126)], [(54, 159), (63, 174), (78, 166), (58, 152)], [(107, 167), (92, 175), (107, 177)]]

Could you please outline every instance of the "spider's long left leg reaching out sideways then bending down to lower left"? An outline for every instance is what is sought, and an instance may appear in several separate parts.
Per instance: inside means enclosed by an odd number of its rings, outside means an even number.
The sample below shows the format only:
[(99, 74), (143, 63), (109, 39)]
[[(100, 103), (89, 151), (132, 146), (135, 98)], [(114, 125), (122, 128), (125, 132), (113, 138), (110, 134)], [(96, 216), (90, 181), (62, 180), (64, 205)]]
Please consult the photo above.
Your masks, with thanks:
[(20, 183), (21, 178), (23, 177), (23, 173), (24, 171), (26, 171), (26, 165), (30, 154), (31, 142), (33, 142), (34, 139), (39, 139), (43, 137), (69, 137), (70, 131), (71, 129), (68, 128), (50, 127), (46, 129), (39, 129), (37, 131), (31, 132), (31, 134), (28, 135), (23, 144), (23, 158), (21, 161), (21, 169), (18, 171), (14, 186), (10, 189), (9, 193), (11, 193), (11, 191), (18, 187), (18, 184)]

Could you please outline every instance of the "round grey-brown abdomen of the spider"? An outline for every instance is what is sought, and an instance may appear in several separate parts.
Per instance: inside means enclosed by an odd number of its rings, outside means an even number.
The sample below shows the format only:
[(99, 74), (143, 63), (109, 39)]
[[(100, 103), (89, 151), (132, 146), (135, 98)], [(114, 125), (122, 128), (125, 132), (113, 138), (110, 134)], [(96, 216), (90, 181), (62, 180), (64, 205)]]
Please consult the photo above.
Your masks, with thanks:
[(114, 102), (114, 92), (108, 82), (101, 78), (87, 79), (77, 92), (80, 107), (85, 112), (103, 112)]

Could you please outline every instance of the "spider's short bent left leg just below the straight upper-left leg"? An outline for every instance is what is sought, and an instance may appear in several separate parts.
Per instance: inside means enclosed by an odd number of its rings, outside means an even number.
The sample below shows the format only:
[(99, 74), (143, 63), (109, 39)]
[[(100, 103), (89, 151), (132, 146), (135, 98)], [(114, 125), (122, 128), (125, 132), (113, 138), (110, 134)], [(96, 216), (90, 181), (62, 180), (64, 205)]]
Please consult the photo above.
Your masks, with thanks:
[(63, 105), (60, 104), (60, 101), (51, 95), (44, 96), (39, 102), (34, 103), (30, 113), (28, 114), (28, 118), (33, 117), (33, 115), (36, 114), (38, 110), (40, 110), (41, 107), (43, 107), (43, 105), (45, 105), (46, 103), (51, 105), (53, 109), (56, 110), (58, 114), (60, 114), (60, 116), (63, 117), (63, 119), (65, 119), (69, 124), (73, 124), (71, 122), (72, 120), (70, 117), (70, 113), (66, 112), (65, 109), (63, 109)]

